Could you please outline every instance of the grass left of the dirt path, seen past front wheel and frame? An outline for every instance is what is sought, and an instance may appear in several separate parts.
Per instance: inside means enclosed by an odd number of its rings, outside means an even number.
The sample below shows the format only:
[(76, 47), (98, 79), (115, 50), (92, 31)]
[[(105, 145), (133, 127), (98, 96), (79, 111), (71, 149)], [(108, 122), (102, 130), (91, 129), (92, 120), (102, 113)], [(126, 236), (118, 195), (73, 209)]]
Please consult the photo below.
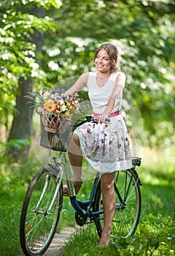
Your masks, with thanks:
[[(20, 248), (20, 211), (31, 178), (42, 168), (39, 160), (31, 155), (26, 164), (13, 163), (8, 157), (1, 157), (0, 162), (0, 244), (1, 255), (23, 255)], [(88, 183), (88, 188), (90, 183)], [(88, 195), (87, 187), (82, 188), (82, 199)], [(76, 225), (74, 210), (69, 197), (63, 198), (63, 210), (58, 225), (59, 230)]]

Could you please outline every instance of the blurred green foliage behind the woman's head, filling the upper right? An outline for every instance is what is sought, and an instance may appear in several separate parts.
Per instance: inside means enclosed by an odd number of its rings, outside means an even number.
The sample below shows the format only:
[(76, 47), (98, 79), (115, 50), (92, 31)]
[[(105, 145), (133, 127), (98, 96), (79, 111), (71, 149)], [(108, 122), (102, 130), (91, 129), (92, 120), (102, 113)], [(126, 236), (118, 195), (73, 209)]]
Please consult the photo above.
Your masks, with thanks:
[(122, 53), (125, 89), (141, 110), (144, 143), (171, 143), (171, 113), (175, 110), (173, 13), (174, 4), (168, 1), (64, 1), (60, 12), (52, 12), (56, 34), (52, 41), (45, 37), (47, 61), (43, 68), (49, 72), (48, 79), (59, 83), (93, 70), (96, 47), (102, 42), (114, 43)]

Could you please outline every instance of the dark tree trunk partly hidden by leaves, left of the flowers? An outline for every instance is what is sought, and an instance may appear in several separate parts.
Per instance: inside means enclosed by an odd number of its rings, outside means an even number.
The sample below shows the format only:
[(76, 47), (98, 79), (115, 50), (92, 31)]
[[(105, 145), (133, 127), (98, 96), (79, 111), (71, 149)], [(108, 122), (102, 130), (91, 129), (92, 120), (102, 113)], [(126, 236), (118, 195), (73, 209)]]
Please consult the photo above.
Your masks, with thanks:
[[(34, 6), (30, 13), (36, 17), (44, 18), (45, 10)], [(34, 34), (32, 35), (32, 42), (36, 45), (37, 52), (42, 51), (43, 39), (44, 34), (35, 29)], [(36, 59), (36, 62), (41, 64), (39, 59)], [(24, 96), (26, 96), (29, 91), (33, 90), (33, 81), (30, 79), (24, 80), (23, 78), (20, 78), (18, 83), (19, 94), (16, 97), (18, 115), (13, 118), (9, 140), (31, 138), (31, 118), (34, 108), (30, 108), (30, 105), (27, 104), (27, 100)], [(28, 159), (29, 148), (30, 146), (24, 146), (23, 148), (11, 148), (8, 153), (15, 161), (26, 162)]]

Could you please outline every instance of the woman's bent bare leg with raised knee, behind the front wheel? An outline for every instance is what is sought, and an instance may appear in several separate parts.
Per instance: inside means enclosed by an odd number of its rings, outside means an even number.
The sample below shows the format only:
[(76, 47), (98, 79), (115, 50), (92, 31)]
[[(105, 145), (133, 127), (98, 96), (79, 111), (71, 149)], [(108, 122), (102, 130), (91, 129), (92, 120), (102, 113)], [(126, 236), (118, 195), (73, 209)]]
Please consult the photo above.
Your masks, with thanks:
[(80, 149), (79, 138), (76, 134), (71, 136), (68, 155), (74, 172), (74, 181), (82, 181), (82, 151)]

